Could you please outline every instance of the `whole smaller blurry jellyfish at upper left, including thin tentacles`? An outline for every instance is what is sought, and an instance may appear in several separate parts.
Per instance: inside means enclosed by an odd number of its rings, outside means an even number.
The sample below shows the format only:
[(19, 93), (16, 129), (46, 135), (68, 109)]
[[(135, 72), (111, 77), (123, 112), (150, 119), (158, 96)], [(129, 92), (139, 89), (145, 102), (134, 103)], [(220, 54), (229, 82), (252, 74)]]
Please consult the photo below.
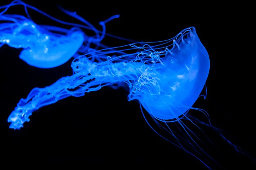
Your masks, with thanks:
[[(25, 8), (27, 16), (6, 14), (9, 8), (17, 5), (22, 5)], [(78, 56), (81, 51), (85, 53), (91, 48), (102, 46), (100, 42), (105, 36), (106, 22), (119, 17), (119, 15), (115, 15), (100, 22), (103, 31), (99, 31), (78, 14), (63, 8), (61, 10), (64, 13), (83, 22), (84, 25), (58, 20), (20, 0), (14, 0), (0, 9), (4, 9), (0, 12), (0, 47), (6, 44), (13, 48), (22, 48), (20, 59), (39, 68), (57, 67), (66, 63), (70, 58)], [(71, 28), (38, 25), (30, 17), (28, 9)], [(95, 35), (87, 36), (82, 29), (90, 30)]]

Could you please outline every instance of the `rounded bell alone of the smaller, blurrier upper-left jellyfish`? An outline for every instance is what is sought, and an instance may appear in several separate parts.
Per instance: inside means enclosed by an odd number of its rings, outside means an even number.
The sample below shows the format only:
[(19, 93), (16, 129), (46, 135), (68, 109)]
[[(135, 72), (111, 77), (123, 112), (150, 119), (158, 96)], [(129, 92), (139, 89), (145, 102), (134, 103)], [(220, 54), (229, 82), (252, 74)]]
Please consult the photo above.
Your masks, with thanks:
[(52, 68), (66, 63), (83, 45), (82, 31), (67, 35), (49, 36), (47, 34), (33, 37), (32, 45), (20, 52), (20, 59), (38, 68)]

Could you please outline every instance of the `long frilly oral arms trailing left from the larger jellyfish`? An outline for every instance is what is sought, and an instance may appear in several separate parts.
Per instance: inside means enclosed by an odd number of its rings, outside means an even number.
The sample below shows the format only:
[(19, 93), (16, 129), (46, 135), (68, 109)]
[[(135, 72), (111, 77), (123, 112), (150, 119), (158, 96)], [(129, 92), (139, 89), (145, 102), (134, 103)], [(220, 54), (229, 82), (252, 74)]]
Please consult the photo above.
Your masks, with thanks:
[(23, 123), (29, 121), (29, 116), (32, 112), (40, 107), (56, 103), (63, 98), (84, 96), (85, 93), (97, 91), (104, 86), (118, 84), (124, 79), (135, 81), (137, 79), (134, 76), (135, 72), (140, 70), (135, 68), (134, 65), (131, 67), (130, 64), (124, 62), (113, 63), (111, 66), (103, 63), (99, 67), (97, 63), (91, 63), (87, 58), (80, 58), (80, 61), (83, 61), (83, 64), (87, 64), (88, 68), (90, 66), (90, 69), (85, 67), (82, 70), (81, 67), (77, 67), (79, 72), (76, 74), (63, 77), (45, 88), (34, 88), (27, 98), (20, 99), (8, 118), (8, 122), (11, 123), (10, 128), (22, 128)]

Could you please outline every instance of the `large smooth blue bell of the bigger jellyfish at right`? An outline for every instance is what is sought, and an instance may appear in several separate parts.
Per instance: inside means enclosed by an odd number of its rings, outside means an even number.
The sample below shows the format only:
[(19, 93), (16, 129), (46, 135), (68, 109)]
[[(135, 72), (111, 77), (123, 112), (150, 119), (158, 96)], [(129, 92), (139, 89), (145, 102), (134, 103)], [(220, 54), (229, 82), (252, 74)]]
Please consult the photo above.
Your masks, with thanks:
[(157, 119), (171, 120), (185, 114), (202, 92), (209, 74), (209, 55), (195, 28), (187, 28), (173, 38), (146, 78), (135, 84), (132, 98)]

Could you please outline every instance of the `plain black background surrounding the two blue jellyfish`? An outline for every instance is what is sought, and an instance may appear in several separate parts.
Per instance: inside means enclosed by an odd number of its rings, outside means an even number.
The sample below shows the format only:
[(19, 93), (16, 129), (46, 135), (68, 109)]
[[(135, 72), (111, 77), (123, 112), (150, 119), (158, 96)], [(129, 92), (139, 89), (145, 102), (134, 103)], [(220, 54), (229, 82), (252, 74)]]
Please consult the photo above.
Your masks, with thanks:
[[(8, 2), (11, 1), (5, 1)], [(254, 31), (250, 5), (232, 4), (166, 4), (137, 2), (85, 2), (80, 0), (24, 1), (46, 13), (71, 21), (57, 5), (76, 11), (101, 29), (99, 21), (120, 14), (106, 25), (107, 32), (138, 41), (166, 40), (186, 27), (194, 26), (207, 49), (211, 68), (207, 79), (207, 98), (195, 105), (206, 110), (211, 123), (232, 136), (232, 141), (256, 157), (254, 110)], [(241, 15), (240, 11), (246, 9)], [(11, 11), (18, 13), (19, 11)], [(32, 15), (33, 14), (33, 15)], [(36, 13), (38, 24), (56, 25)], [(45, 23), (47, 22), (47, 23)], [(117, 46), (116, 42), (108, 42)], [(94, 164), (126, 167), (157, 165), (159, 169), (207, 169), (197, 159), (171, 145), (149, 128), (139, 104), (127, 101), (123, 89), (103, 88), (79, 98), (66, 98), (34, 112), (21, 130), (9, 129), (7, 118), (20, 98), (34, 87), (51, 85), (71, 75), (71, 60), (52, 69), (27, 65), (18, 57), (20, 49), (4, 45), (1, 57), (1, 162), (46, 165), (58, 163)], [(214, 155), (223, 169), (255, 169), (256, 161), (237, 154), (230, 145), (213, 141), (220, 149)], [(222, 145), (223, 143), (223, 145)], [(122, 169), (122, 168), (120, 168)], [(175, 169), (175, 168), (174, 168)], [(218, 169), (218, 168), (217, 168)]]

